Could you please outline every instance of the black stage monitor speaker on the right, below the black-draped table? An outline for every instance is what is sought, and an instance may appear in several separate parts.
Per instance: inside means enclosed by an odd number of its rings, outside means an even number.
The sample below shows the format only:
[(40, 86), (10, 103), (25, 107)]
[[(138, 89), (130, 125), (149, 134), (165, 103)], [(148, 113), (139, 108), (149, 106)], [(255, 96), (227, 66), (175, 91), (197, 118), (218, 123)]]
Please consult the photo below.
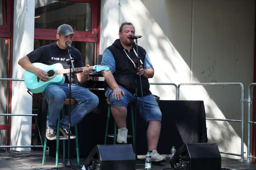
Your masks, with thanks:
[(220, 170), (221, 156), (216, 143), (183, 144), (170, 160), (172, 169)]

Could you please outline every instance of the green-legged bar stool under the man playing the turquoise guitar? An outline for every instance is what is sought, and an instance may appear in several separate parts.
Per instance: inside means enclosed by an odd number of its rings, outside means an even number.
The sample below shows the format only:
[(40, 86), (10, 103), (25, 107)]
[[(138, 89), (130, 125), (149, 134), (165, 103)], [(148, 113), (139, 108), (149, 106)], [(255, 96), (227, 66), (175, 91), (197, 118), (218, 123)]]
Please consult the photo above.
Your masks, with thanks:
[[(47, 104), (49, 104), (49, 100), (47, 99)], [(62, 117), (64, 117), (65, 114), (65, 105), (69, 104), (69, 99), (66, 99), (62, 108)], [(71, 99), (71, 105), (73, 105), (73, 109), (76, 107), (76, 100)], [(47, 115), (49, 115), (49, 108), (48, 108), (48, 112)], [(46, 134), (46, 133), (45, 133)], [(76, 135), (76, 159), (77, 159), (77, 165), (80, 166), (80, 161), (79, 161), (79, 147), (78, 147), (78, 132), (77, 132), (77, 125), (75, 125), (75, 135)], [(66, 140), (68, 140), (68, 138), (64, 137), (64, 136), (60, 136), (60, 114), (57, 120), (57, 126), (56, 126), (56, 167), (58, 167), (58, 161), (59, 161), (59, 144), (60, 144), (60, 140), (63, 140), (63, 164), (66, 163), (65, 159), (66, 159)], [(47, 138), (46, 135), (44, 137), (44, 153), (43, 153), (43, 159), (42, 159), (42, 165), (44, 164), (44, 160), (45, 160), (45, 152), (46, 152), (46, 144), (47, 144)]]

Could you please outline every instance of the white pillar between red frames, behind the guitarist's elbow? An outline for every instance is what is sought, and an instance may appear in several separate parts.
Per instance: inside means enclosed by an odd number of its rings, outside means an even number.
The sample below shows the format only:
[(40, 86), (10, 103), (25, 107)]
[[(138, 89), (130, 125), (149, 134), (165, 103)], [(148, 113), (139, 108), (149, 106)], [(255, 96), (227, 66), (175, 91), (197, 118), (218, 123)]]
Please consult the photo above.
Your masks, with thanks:
[[(23, 78), (18, 60), (34, 49), (35, 0), (14, 0), (12, 78)], [(31, 114), (32, 97), (23, 81), (12, 82), (12, 114)], [(12, 116), (11, 145), (31, 145), (31, 117)], [(30, 148), (11, 148), (30, 150)]]

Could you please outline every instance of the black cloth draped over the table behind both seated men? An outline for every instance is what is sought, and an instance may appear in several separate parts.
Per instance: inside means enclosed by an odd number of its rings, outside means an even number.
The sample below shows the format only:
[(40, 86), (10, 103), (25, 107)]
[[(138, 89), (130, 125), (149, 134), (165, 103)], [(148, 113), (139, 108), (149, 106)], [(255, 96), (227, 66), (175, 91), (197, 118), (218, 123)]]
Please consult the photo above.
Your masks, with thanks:
[[(104, 144), (106, 120), (108, 113), (108, 105), (104, 98), (104, 90), (97, 92), (99, 96), (99, 106), (87, 114), (84, 119), (78, 124), (78, 139), (79, 139), (79, 154), (80, 156), (88, 156), (93, 147), (97, 144)], [(47, 108), (47, 103), (41, 102), (44, 108)], [(162, 112), (161, 133), (158, 142), (157, 151), (160, 154), (170, 154), (172, 146), (176, 149), (180, 148), (184, 143), (207, 143), (207, 132), (205, 123), (205, 111), (203, 101), (191, 100), (158, 100), (159, 107)], [(45, 106), (46, 105), (46, 106)], [(135, 106), (134, 106), (135, 107)], [(40, 111), (39, 111), (40, 113)], [(42, 113), (42, 112), (41, 112)], [(130, 107), (128, 107), (127, 128), (128, 134), (131, 134), (131, 116)], [(46, 119), (47, 112), (43, 111)], [(39, 117), (38, 117), (39, 118)], [(38, 120), (44, 122), (45, 120)], [(45, 134), (45, 129), (40, 125), (41, 133)], [(137, 155), (145, 155), (147, 153), (147, 124), (137, 114), (136, 118), (136, 153)], [(72, 133), (74, 129), (71, 129)], [(113, 134), (114, 119), (111, 115), (109, 122), (109, 133)], [(41, 135), (42, 136), (42, 135)], [(42, 137), (44, 141), (44, 137)], [(40, 139), (39, 139), (40, 140)], [(39, 142), (39, 141), (38, 141)], [(127, 139), (128, 144), (132, 144), (132, 138)], [(62, 142), (61, 142), (62, 143)], [(60, 143), (60, 156), (62, 152), (62, 144)], [(36, 143), (34, 143), (36, 144)], [(113, 138), (108, 137), (107, 144), (113, 144)], [(117, 143), (116, 143), (117, 144)], [(56, 141), (49, 141), (47, 145), (50, 147), (50, 155), (55, 156)], [(76, 155), (75, 140), (71, 140), (71, 156)]]

